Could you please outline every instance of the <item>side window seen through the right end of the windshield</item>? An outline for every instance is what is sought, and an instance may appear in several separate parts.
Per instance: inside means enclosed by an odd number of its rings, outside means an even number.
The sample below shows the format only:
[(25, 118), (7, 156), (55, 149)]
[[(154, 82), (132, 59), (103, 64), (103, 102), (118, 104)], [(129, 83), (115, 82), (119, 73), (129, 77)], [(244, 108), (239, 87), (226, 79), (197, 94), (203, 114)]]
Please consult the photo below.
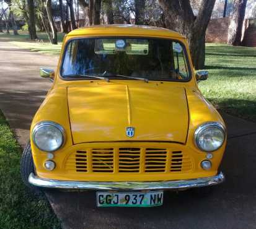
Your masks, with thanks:
[(173, 42), (172, 49), (174, 52), (174, 67), (175, 71), (180, 75), (181, 79), (188, 78), (188, 66), (185, 53), (180, 43)]

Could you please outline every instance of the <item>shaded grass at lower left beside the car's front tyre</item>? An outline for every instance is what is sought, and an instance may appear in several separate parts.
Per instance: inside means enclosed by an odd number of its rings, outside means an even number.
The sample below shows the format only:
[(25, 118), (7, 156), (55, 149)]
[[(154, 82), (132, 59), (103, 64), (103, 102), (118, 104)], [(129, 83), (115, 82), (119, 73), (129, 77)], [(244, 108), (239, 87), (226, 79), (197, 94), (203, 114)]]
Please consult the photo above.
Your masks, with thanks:
[(60, 228), (45, 197), (35, 197), (20, 178), (21, 150), (0, 112), (0, 227)]

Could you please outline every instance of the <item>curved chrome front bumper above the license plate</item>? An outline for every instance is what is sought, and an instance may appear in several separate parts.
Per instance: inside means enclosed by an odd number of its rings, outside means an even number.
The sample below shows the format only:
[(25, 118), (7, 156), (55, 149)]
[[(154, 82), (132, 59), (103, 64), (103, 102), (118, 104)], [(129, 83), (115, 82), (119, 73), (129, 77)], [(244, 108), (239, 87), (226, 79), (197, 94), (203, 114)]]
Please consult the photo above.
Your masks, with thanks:
[(184, 179), (175, 181), (60, 181), (56, 179), (43, 179), (29, 175), (29, 183), (43, 188), (60, 188), (60, 189), (90, 189), (90, 190), (164, 190), (164, 189), (188, 189), (203, 186), (212, 186), (224, 181), (223, 173), (216, 176), (197, 179)]

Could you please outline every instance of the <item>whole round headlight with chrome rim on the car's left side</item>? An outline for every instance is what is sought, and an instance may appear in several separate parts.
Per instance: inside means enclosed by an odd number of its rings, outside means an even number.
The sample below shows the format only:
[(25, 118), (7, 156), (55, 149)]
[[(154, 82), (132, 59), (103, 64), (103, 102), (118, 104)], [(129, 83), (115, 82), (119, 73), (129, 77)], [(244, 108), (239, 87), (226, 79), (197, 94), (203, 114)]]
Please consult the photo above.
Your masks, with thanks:
[(64, 143), (64, 129), (57, 123), (42, 121), (33, 128), (32, 137), (38, 149), (53, 152)]

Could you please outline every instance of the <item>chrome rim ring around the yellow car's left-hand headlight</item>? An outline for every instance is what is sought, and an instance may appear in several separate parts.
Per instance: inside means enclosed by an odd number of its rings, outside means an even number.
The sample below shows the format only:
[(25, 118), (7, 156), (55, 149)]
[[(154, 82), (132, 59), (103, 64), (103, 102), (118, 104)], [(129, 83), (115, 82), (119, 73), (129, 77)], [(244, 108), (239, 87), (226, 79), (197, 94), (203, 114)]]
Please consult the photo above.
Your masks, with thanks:
[[(41, 149), (40, 147), (38, 147), (38, 145), (35, 143), (35, 133), (38, 131), (38, 129), (40, 129), (41, 127), (43, 126), (54, 126), (56, 127), (57, 129), (59, 129), (59, 131), (61, 132), (62, 134), (62, 142), (60, 144), (60, 146), (57, 148), (57, 149), (54, 149), (54, 150), (44, 150), (44, 149)], [(34, 127), (33, 127), (33, 131), (32, 131), (32, 139), (33, 139), (33, 143), (37, 146), (38, 149), (40, 149), (41, 151), (43, 152), (55, 152), (56, 150), (60, 149), (61, 147), (63, 147), (64, 143), (65, 143), (65, 140), (66, 140), (66, 134), (65, 134), (65, 130), (63, 128), (63, 126), (61, 126), (60, 124), (58, 123), (55, 123), (54, 121), (41, 121), (39, 123), (37, 123)]]

